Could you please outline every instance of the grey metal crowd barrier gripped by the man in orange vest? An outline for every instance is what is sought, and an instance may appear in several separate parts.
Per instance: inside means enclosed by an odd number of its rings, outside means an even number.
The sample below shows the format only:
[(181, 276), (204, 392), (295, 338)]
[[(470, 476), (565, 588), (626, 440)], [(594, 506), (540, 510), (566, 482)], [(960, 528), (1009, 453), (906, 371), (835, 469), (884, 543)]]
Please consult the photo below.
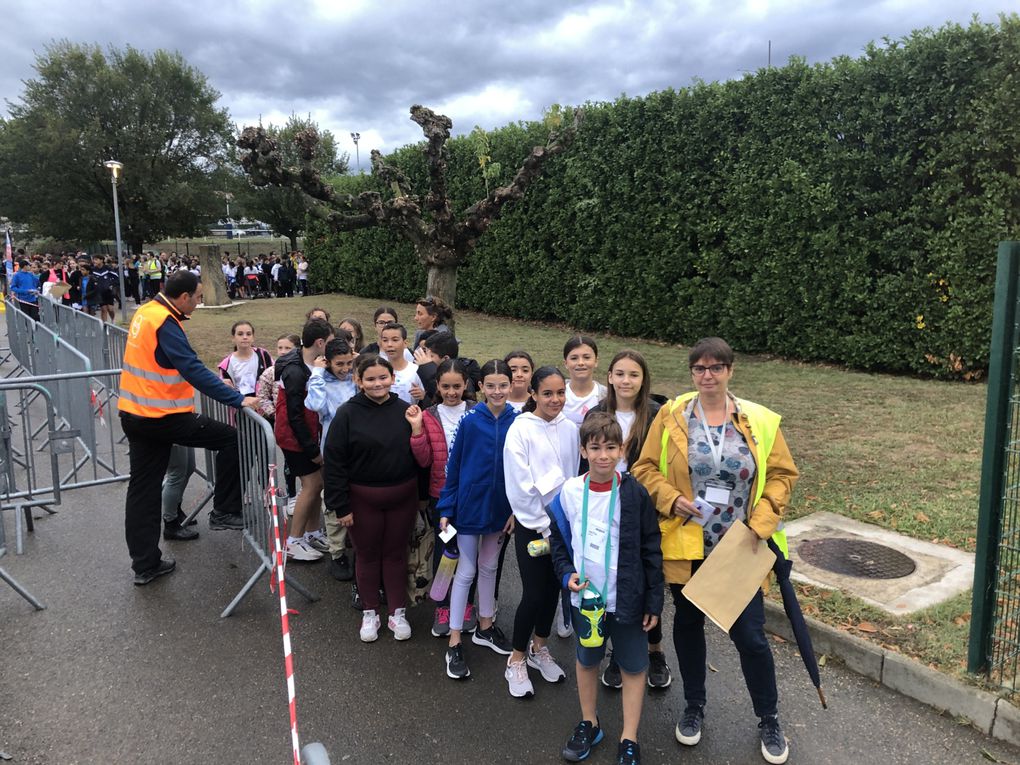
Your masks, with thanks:
[[(198, 398), (199, 407), (203, 414), (217, 422), (236, 427), (238, 430), (241, 513), (245, 523), (242, 536), (258, 559), (258, 568), (220, 614), (221, 617), (226, 617), (237, 610), (241, 601), (264, 574), (272, 574), (272, 556), (275, 548), (272, 541), (272, 516), (270, 513), (279, 513), (277, 519), (280, 528), (286, 527), (287, 514), (286, 510), (276, 508), (269, 494), (269, 466), (278, 464), (276, 439), (272, 432), (272, 425), (264, 417), (260, 417), (250, 409), (238, 410), (201, 393), (198, 394)], [(215, 483), (215, 457), (208, 450), (206, 450), (206, 473), (209, 476), (211, 487)], [(275, 479), (273, 482), (276, 483)], [(208, 500), (209, 496), (203, 500), (203, 504)], [(283, 503), (280, 504), (283, 505)], [(317, 594), (308, 590), (290, 571), (287, 572), (287, 585), (293, 588), (309, 601), (319, 599)]]

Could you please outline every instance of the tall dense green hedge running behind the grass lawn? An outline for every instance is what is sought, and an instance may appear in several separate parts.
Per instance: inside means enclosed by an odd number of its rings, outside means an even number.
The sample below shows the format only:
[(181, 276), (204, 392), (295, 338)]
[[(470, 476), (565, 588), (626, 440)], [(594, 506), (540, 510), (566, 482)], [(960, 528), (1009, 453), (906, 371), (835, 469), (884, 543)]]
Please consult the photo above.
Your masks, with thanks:
[[(490, 134), (504, 181), (538, 123)], [(462, 209), (484, 194), (450, 142)], [(994, 252), (1020, 238), (1020, 18), (923, 31), (860, 58), (589, 104), (577, 140), (479, 240), (457, 303), (864, 369), (979, 376)], [(420, 149), (389, 158), (424, 189)], [(339, 182), (371, 188), (369, 176)], [(412, 300), (384, 231), (310, 233), (328, 289)]]

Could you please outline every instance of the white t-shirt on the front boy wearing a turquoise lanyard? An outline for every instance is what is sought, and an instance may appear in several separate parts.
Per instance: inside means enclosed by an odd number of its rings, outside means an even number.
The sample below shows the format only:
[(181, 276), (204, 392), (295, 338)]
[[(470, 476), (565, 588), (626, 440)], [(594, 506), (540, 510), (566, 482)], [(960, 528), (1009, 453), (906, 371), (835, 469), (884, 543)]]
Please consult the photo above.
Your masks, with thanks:
[[(560, 492), (560, 505), (570, 522), (570, 537), (573, 543), (574, 568), (579, 573), (581, 559), (584, 577), (594, 584), (606, 600), (606, 611), (616, 611), (616, 570), (620, 558), (620, 491), (616, 489), (616, 509), (613, 511), (613, 525), (609, 526), (610, 488), (604, 492), (592, 491), (588, 496), (588, 540), (581, 537), (581, 509), (584, 500), (584, 476), (567, 479)], [(606, 577), (606, 537), (609, 537), (609, 577)], [(571, 593), (570, 603), (580, 607), (580, 594)]]

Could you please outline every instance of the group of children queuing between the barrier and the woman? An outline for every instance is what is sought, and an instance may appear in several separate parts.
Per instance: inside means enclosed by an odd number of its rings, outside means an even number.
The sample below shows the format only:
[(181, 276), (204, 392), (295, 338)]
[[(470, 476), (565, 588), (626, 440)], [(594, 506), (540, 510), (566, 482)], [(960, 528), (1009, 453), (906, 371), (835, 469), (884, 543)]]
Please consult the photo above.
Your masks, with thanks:
[[(562, 681), (548, 641), (565, 600), (558, 626), (564, 633), (572, 625), (576, 634), (582, 720), (563, 757), (582, 760), (603, 737), (596, 697), (611, 641), (602, 681), (623, 693), (617, 761), (640, 762), (646, 682), (670, 682), (658, 645), (663, 574), (656, 510), (627, 473), (659, 406), (644, 358), (617, 354), (608, 388), (595, 379), (598, 347), (583, 336), (564, 347), (569, 376), (555, 366), (536, 367), (525, 351), (479, 367), (459, 358), (446, 327), (449, 309), (431, 298), (417, 304), (410, 349), (389, 307), (375, 312), (377, 338), (367, 346), (353, 318), (336, 327), (321, 309), (307, 318), (300, 338), (277, 339), (274, 363), (254, 346), (252, 325), (238, 322), (235, 350), (220, 363), (225, 380), (261, 399), (288, 479), (300, 478), (288, 558), (328, 554), (339, 579), (352, 577), (353, 558), (360, 639), (377, 640), (385, 604), (389, 630), (408, 640), (408, 540), (424, 504), (437, 534), (448, 540), (437, 537), (434, 572), (444, 554), (458, 561), (432, 626), (434, 635), (448, 641), (447, 675), (470, 676), (469, 633), (473, 645), (508, 657), (511, 696), (534, 694), (529, 669)], [(294, 497), (293, 483), (289, 491)], [(522, 596), (508, 639), (495, 617), (511, 540)]]

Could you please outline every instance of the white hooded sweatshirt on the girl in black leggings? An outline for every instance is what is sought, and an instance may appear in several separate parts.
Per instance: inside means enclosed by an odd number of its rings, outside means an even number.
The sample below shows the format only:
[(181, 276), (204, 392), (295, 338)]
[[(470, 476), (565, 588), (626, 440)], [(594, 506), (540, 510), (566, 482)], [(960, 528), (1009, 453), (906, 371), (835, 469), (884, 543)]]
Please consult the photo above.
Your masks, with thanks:
[(563, 412), (547, 422), (533, 412), (517, 415), (503, 450), (507, 499), (517, 522), (549, 537), (546, 507), (580, 463), (577, 425)]

